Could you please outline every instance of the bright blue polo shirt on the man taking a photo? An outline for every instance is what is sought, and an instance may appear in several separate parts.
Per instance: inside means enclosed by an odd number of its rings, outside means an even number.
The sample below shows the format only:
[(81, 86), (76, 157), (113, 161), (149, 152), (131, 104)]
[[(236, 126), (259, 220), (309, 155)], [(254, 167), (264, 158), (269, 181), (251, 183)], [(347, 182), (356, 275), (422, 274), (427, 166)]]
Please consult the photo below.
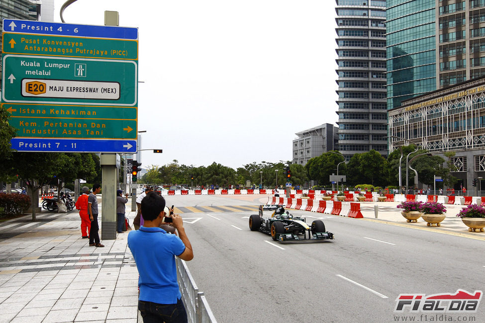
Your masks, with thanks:
[(177, 283), (175, 255), (185, 251), (185, 244), (176, 235), (160, 228), (131, 230), (128, 247), (135, 259), (140, 278), (140, 301), (176, 304), (182, 297)]

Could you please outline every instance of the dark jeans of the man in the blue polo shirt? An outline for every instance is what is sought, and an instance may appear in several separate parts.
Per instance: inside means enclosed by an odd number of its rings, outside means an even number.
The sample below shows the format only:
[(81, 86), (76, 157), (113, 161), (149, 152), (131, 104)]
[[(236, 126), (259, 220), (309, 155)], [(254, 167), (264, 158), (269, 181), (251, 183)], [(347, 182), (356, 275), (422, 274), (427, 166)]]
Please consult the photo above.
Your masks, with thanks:
[(144, 323), (187, 323), (187, 312), (182, 300), (177, 300), (177, 304), (138, 301), (138, 310), (140, 310)]

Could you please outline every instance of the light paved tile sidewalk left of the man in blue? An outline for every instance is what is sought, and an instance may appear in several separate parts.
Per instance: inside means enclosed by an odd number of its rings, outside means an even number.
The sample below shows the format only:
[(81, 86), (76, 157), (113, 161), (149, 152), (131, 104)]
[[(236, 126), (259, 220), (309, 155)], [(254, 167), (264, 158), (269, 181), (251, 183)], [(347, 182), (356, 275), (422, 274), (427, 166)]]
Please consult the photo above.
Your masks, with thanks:
[[(134, 216), (127, 213), (130, 223)], [(42, 212), (37, 220), (0, 223), (0, 322), (137, 322), (128, 234), (90, 247), (78, 212)]]

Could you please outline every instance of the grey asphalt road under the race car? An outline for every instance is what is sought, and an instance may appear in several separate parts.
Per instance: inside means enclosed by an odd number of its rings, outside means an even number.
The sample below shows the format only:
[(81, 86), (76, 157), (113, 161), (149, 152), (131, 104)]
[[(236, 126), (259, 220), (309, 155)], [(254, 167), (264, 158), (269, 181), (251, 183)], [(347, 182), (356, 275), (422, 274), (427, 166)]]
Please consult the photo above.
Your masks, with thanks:
[[(176, 207), (263, 202), (254, 196), (167, 201)], [(401, 316), (432, 322), (421, 313), (394, 313), (398, 295), (484, 290), (484, 241), (294, 211), (307, 223), (323, 218), (336, 239), (274, 242), (249, 230), (249, 215), (255, 213), (183, 214), (194, 248), (187, 264), (218, 322), (397, 322)], [(485, 305), (466, 316), (485, 322)]]

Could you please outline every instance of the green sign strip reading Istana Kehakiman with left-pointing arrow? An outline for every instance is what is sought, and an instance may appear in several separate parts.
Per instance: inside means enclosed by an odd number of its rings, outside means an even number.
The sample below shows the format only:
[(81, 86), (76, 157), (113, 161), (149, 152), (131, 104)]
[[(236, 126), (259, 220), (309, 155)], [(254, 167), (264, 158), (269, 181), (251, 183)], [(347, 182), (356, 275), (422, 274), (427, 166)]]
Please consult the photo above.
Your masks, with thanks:
[(137, 108), (124, 106), (2, 103), (13, 117), (136, 120)]

